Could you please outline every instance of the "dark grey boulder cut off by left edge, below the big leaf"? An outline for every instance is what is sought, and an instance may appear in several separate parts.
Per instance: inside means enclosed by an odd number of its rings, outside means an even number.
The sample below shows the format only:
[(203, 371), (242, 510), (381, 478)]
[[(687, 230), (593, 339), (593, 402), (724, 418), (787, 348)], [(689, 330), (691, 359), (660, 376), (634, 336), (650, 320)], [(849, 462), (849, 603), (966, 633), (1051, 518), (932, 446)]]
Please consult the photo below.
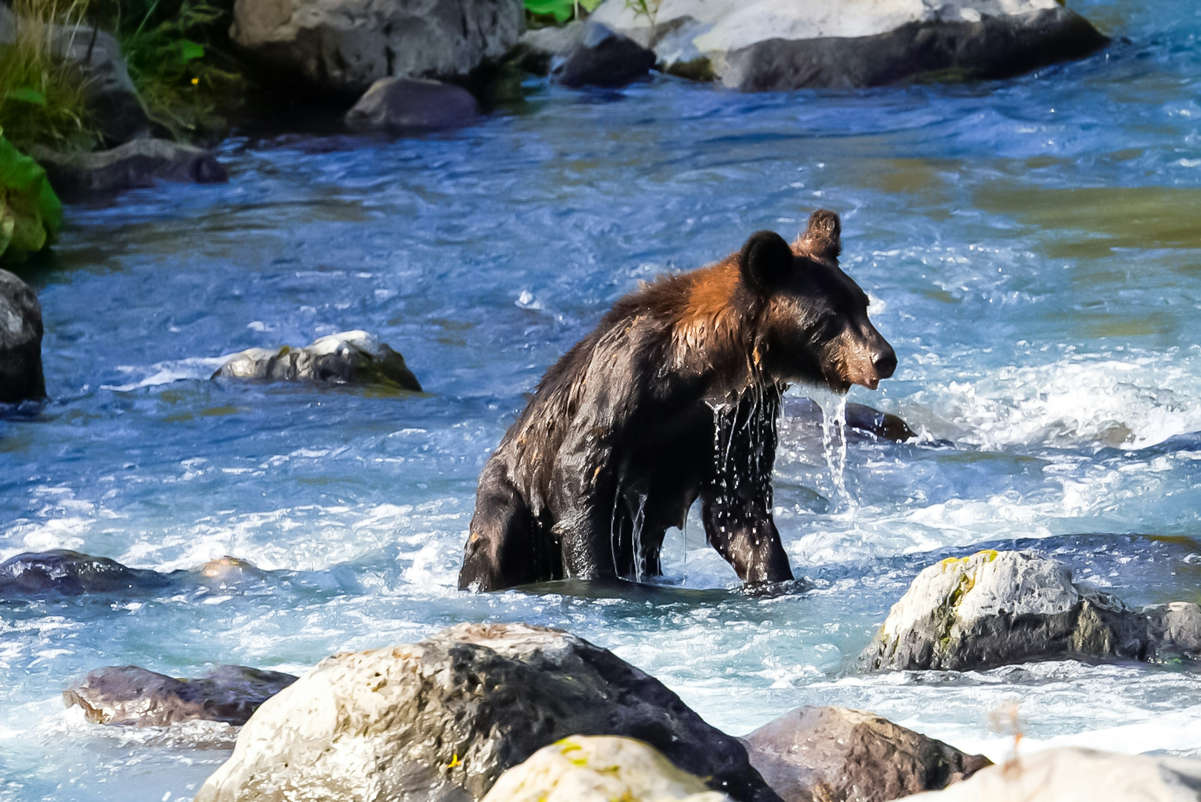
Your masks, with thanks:
[(0, 270), (0, 403), (44, 396), (42, 306), (29, 285)]

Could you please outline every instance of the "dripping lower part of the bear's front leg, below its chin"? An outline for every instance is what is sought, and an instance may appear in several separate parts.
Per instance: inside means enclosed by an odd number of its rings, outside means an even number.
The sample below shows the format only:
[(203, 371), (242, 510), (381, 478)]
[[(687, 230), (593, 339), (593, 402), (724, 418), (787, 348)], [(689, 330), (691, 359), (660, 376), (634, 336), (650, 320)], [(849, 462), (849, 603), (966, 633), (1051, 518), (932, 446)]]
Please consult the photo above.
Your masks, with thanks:
[(734, 565), (743, 582), (758, 585), (793, 579), (779, 531), (765, 504), (712, 487), (701, 493), (701, 517), (710, 545)]

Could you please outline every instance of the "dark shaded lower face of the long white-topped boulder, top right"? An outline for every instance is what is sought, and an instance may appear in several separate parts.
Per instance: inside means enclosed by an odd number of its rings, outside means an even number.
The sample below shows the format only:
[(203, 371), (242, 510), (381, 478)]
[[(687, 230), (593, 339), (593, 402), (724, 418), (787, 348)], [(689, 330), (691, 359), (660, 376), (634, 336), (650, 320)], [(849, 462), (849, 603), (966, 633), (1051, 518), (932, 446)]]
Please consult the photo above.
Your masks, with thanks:
[(727, 56), (741, 91), (1008, 78), (1083, 58), (1109, 40), (1080, 14), (1048, 8), (978, 22), (915, 22), (878, 36), (757, 42)]

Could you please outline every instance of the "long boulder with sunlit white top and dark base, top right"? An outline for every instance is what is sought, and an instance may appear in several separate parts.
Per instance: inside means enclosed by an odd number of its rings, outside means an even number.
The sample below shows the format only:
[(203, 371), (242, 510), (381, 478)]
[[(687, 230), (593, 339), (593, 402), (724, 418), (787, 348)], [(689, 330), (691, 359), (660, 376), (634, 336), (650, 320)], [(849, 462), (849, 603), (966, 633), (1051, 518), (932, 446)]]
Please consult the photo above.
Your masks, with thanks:
[(653, 19), (605, 0), (591, 19), (742, 91), (1002, 78), (1109, 41), (1056, 0), (663, 0)]

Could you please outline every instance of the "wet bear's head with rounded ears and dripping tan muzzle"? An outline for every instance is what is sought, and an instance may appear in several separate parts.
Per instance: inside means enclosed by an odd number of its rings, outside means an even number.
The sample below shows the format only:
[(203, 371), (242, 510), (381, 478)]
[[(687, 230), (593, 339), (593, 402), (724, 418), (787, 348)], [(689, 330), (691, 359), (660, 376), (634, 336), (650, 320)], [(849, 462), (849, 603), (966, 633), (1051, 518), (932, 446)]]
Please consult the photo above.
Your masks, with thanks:
[(760, 358), (772, 378), (874, 390), (897, 357), (867, 319), (867, 294), (838, 268), (841, 231), (838, 215), (820, 209), (791, 246), (755, 232), (739, 253), (741, 282), (759, 309)]

